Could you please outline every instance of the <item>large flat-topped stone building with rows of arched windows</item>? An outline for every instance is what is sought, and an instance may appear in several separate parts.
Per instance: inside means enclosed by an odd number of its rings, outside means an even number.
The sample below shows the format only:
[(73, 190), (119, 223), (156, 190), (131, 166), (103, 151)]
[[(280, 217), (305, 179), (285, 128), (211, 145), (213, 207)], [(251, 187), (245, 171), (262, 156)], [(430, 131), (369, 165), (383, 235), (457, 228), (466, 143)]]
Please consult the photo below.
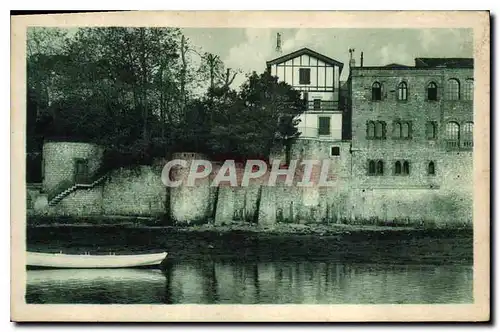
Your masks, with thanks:
[(363, 217), (472, 219), (473, 60), (352, 67), (352, 204)]

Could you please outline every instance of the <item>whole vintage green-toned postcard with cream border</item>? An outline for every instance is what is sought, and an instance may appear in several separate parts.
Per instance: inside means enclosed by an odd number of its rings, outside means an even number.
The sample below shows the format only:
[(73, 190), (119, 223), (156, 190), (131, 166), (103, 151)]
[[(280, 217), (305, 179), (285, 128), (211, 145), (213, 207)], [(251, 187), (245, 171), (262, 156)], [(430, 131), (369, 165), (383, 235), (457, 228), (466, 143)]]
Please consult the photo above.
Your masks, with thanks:
[(489, 320), (489, 29), (12, 17), (11, 319)]

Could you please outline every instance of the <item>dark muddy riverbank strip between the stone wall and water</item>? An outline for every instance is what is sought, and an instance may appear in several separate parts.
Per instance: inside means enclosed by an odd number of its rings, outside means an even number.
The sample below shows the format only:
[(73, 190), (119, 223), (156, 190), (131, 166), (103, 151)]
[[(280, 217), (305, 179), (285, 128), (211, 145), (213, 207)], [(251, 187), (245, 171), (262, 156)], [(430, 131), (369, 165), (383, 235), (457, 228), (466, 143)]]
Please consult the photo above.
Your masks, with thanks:
[[(83, 222), (83, 221), (82, 221)], [(28, 250), (65, 253), (168, 251), (169, 260), (348, 261), (472, 264), (472, 229), (377, 225), (261, 227), (52, 223), (29, 225)]]

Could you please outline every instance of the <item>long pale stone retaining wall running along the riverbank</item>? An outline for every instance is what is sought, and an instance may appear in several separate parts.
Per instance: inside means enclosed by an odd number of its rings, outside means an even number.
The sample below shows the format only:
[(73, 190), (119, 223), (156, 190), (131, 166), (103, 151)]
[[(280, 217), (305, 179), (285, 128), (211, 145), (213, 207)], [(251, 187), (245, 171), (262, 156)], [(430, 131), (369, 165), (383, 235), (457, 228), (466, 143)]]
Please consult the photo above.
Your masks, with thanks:
[[(332, 155), (332, 147), (338, 155)], [(408, 176), (367, 176), (366, 158), (384, 158), (388, 165), (400, 158), (421, 159), (412, 163)], [(170, 212), (179, 223), (216, 224), (232, 221), (276, 223), (349, 223), (378, 219), (385, 224), (407, 220), (418, 224), (464, 223), (472, 221), (472, 152), (450, 153), (440, 149), (406, 151), (405, 149), (362, 149), (351, 151), (350, 141), (297, 140), (290, 151), (291, 159), (314, 159), (330, 162), (331, 187), (298, 187), (264, 182), (248, 187), (210, 186), (215, 174), (195, 187), (166, 188), (162, 183), (164, 162), (152, 166), (122, 168), (112, 171), (99, 186), (79, 189), (56, 205), (47, 206), (40, 186), (27, 190), (28, 213), (63, 216), (128, 215), (160, 217)], [(202, 155), (180, 154), (174, 158), (204, 159)], [(426, 160), (434, 158), (436, 175), (427, 175)], [(272, 158), (285, 160), (284, 151)], [(220, 166), (220, 165), (219, 165)], [(217, 170), (217, 166), (214, 167)], [(177, 176), (185, 176), (177, 169)], [(244, 165), (237, 165), (238, 179)], [(389, 168), (388, 168), (389, 169)], [(317, 169), (313, 172), (317, 178)], [(264, 176), (265, 178), (265, 176)], [(300, 181), (301, 178), (296, 180)], [(239, 182), (238, 182), (239, 183)], [(168, 191), (170, 197), (168, 199)]]

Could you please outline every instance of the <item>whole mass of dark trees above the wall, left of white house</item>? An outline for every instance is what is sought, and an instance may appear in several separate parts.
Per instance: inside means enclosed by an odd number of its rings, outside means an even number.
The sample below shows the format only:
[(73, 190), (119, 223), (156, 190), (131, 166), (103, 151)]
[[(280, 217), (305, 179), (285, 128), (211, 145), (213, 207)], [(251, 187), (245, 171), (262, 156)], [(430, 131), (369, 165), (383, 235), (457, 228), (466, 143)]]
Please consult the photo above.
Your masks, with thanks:
[(231, 89), (238, 71), (209, 53), (192, 63), (179, 29), (31, 28), (27, 47), (28, 154), (61, 139), (103, 145), (109, 168), (175, 151), (265, 158), (299, 135), (297, 91), (267, 72)]

